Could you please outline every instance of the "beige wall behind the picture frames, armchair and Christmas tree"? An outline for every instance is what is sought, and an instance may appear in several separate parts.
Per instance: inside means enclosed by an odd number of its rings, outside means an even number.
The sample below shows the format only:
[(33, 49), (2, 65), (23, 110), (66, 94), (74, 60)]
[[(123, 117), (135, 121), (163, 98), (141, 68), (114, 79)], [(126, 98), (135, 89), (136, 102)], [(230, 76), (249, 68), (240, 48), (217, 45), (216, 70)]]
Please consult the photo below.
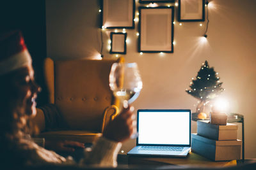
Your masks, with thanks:
[[(137, 24), (127, 30), (130, 43), (127, 62), (137, 62), (143, 79), (143, 90), (133, 103), (139, 108), (190, 108), (196, 99), (186, 94), (192, 77), (202, 62), (219, 73), (230, 102), (229, 112), (245, 117), (245, 156), (256, 158), (256, 1), (212, 0), (209, 9), (209, 31), (206, 43), (200, 43), (205, 22), (175, 24), (174, 53), (137, 52)], [(138, 4), (138, 3), (137, 3)], [(99, 4), (96, 0), (47, 0), (47, 55), (53, 59), (97, 58), (100, 52)], [(175, 17), (176, 18), (176, 17)], [(175, 19), (176, 20), (176, 19)], [(176, 22), (177, 23), (177, 22)], [(108, 53), (109, 31), (103, 32), (104, 59), (115, 58)], [(120, 30), (122, 31), (122, 30)], [(196, 131), (193, 122), (192, 131)], [(241, 132), (241, 125), (239, 125)], [(241, 134), (239, 134), (241, 138)], [(124, 144), (127, 152), (135, 140)]]

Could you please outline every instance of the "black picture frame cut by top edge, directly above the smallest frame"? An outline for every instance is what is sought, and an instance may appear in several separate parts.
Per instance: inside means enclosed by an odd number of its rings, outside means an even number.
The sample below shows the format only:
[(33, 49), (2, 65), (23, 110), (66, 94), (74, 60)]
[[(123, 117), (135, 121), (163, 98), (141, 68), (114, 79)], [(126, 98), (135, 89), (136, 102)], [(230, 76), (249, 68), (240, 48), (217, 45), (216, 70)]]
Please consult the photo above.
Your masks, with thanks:
[(134, 29), (135, 0), (102, 1), (102, 27)]

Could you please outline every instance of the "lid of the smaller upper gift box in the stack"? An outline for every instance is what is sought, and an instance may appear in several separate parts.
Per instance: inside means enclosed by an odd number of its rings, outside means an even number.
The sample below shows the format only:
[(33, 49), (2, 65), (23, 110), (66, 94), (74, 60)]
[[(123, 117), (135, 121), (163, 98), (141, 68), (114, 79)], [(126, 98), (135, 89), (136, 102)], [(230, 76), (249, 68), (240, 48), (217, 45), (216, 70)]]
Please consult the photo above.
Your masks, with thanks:
[(227, 123), (227, 125), (214, 125), (214, 124), (210, 124), (209, 120), (198, 120), (197, 126), (210, 127), (213, 129), (219, 129), (220, 131), (221, 130), (237, 130), (238, 129), (238, 126), (236, 124)]

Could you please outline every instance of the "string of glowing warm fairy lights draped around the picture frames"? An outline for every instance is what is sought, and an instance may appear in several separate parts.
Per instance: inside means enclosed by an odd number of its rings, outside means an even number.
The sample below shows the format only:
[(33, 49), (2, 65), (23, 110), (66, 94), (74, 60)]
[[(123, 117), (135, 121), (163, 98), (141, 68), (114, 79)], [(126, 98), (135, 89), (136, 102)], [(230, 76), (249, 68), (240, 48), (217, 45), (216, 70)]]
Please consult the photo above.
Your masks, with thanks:
[[(136, 0), (136, 6), (145, 6), (145, 7), (147, 7), (147, 8), (149, 8), (149, 7), (152, 8), (152, 7), (157, 7), (157, 6), (159, 6), (159, 4), (157, 4), (157, 3), (154, 2), (154, 1), (151, 1), (149, 4), (138, 4), (138, 3), (139, 3), (139, 1)], [(202, 36), (202, 38), (205, 38), (205, 39), (207, 38), (207, 31), (208, 31), (208, 25), (209, 25), (209, 10), (208, 10), (208, 4), (209, 4), (209, 0), (205, 0), (206, 24), (205, 24), (205, 32), (204, 32), (204, 35)], [(163, 6), (163, 5), (161, 4), (161, 6)], [(179, 3), (177, 3), (177, 2), (175, 2), (175, 3), (170, 3), (170, 4), (168, 3), (168, 4), (165, 4), (164, 6), (167, 6), (167, 7), (169, 7), (169, 8), (170, 8), (171, 6), (175, 6), (175, 7), (177, 8), (177, 7), (179, 6)], [(100, 9), (100, 7), (99, 7), (98, 11), (99, 11), (100, 14), (102, 13), (102, 9)], [(136, 8), (135, 15), (134, 15), (134, 23), (135, 23), (136, 25), (138, 25), (139, 16), (140, 16), (140, 13), (139, 13), (139, 11), (138, 11), (138, 8)], [(183, 25), (182, 22), (177, 23), (176, 21), (173, 21), (173, 25), (175, 25), (175, 24), (178, 24), (178, 25), (180, 25), (180, 26)], [(199, 26), (200, 26), (200, 27), (203, 27), (204, 24), (200, 23)], [(101, 27), (101, 29), (100, 29), (100, 41), (101, 41), (101, 43), (100, 43), (100, 56), (101, 56), (102, 58), (103, 58), (103, 47), (104, 47), (103, 32), (106, 31), (106, 30), (112, 31), (113, 29), (109, 29), (109, 28), (107, 28), (107, 27), (104, 26), (104, 25), (102, 25), (102, 27)], [(114, 32), (123, 32), (123, 33), (125, 33), (125, 32), (126, 32), (126, 29), (114, 29)], [(134, 34), (133, 34), (133, 35), (134, 35)], [(135, 32), (135, 35), (136, 35), (136, 36), (140, 36), (140, 32), (138, 32), (138, 31)], [(131, 41), (130, 41), (130, 39), (129, 39), (129, 36), (127, 36), (127, 39), (126, 39), (125, 42), (126, 42), (127, 44), (131, 43)], [(175, 39), (173, 39), (173, 45), (174, 45), (174, 46), (176, 45)], [(111, 49), (111, 40), (110, 40), (110, 39), (108, 39), (108, 45), (107, 45), (106, 47), (107, 47), (108, 51), (110, 51), (110, 49)], [(143, 55), (143, 52), (140, 52), (139, 54), (140, 54), (140, 55)], [(160, 55), (160, 56), (164, 55), (164, 52), (159, 52), (159, 55)], [(115, 54), (114, 56), (115, 56), (115, 57), (120, 57), (118, 54)]]

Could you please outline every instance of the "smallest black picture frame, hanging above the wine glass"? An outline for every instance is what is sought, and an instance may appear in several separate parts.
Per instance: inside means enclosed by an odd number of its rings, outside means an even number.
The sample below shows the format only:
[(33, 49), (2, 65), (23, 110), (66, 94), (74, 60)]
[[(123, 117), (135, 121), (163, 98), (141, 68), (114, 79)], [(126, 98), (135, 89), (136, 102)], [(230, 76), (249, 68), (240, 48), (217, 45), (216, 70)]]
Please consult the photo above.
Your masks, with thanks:
[(111, 49), (109, 53), (126, 53), (126, 32), (110, 32)]

